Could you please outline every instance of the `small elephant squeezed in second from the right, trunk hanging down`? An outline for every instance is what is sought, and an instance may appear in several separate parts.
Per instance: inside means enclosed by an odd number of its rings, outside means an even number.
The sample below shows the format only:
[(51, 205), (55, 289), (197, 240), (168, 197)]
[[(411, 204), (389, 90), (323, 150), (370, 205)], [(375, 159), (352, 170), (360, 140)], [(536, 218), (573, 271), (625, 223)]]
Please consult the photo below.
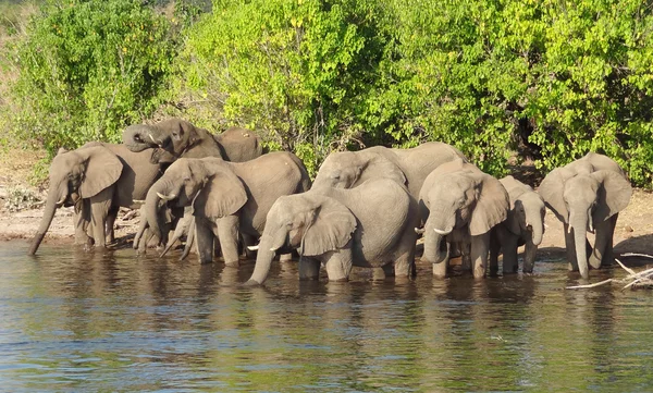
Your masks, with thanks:
[(544, 199), (528, 185), (513, 176), (500, 180), (510, 197), (510, 210), (506, 221), (496, 225), (490, 245), (490, 273), (498, 270), (498, 254), (503, 253), (503, 273), (516, 273), (519, 269), (517, 248), (525, 245), (523, 272), (532, 273), (538, 246), (544, 234)]

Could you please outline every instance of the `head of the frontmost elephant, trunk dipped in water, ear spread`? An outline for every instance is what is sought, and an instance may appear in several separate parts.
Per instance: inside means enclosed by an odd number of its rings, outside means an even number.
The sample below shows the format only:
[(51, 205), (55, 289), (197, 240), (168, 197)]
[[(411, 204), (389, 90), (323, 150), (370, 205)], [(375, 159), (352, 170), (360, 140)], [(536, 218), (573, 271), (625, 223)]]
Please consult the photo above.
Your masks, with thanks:
[(295, 248), (303, 256), (319, 256), (345, 247), (356, 226), (352, 211), (333, 198), (311, 192), (280, 197), (268, 212), (248, 284), (266, 281), (278, 250)]

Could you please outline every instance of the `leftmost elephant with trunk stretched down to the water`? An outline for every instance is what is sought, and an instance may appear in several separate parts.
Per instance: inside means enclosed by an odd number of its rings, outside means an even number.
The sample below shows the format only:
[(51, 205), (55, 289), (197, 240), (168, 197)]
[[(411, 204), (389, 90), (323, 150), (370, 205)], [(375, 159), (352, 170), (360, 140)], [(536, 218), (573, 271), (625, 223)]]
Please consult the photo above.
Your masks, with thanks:
[[(124, 145), (89, 143), (61, 152), (50, 164), (50, 188), (44, 218), (28, 254), (38, 249), (56, 210), (75, 206), (75, 243), (106, 246), (113, 242), (113, 222), (120, 207), (138, 208), (147, 191), (161, 175), (150, 163), (151, 151), (133, 152)], [(90, 224), (93, 240), (86, 234)]]

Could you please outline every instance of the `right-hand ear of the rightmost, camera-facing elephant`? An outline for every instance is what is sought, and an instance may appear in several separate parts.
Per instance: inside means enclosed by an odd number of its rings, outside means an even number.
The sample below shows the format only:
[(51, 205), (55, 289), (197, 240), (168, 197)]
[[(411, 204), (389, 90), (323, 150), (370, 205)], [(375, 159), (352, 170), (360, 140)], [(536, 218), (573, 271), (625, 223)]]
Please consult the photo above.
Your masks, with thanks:
[(593, 212), (594, 222), (603, 222), (619, 211), (626, 209), (632, 195), (630, 182), (618, 172), (596, 171), (591, 174), (601, 183)]

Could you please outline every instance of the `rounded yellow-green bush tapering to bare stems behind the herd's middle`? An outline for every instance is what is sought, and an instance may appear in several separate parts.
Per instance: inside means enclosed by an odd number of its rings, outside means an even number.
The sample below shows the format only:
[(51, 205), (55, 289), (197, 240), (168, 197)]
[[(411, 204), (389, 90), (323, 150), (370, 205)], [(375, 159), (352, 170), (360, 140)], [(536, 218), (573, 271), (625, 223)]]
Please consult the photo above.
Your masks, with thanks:
[(226, 122), (262, 131), (315, 173), (362, 128), (383, 38), (374, 1), (214, 1), (181, 57), (190, 89)]

